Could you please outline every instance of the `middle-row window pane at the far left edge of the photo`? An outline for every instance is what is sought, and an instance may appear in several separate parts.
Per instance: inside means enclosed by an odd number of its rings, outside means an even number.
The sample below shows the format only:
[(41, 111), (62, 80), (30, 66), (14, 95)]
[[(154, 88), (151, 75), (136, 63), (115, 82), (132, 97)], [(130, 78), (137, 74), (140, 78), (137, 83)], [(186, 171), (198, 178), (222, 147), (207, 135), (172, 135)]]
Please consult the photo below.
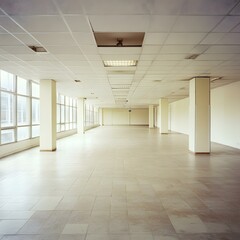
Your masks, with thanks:
[(15, 96), (11, 93), (1, 92), (1, 127), (14, 125)]

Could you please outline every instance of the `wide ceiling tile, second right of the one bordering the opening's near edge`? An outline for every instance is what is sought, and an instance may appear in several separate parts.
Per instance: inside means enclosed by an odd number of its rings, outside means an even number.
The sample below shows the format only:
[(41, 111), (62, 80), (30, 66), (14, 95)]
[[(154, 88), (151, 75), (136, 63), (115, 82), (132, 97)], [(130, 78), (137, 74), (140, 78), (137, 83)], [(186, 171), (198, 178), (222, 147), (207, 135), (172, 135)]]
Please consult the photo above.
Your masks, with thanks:
[(222, 18), (222, 16), (180, 16), (172, 31), (210, 32)]

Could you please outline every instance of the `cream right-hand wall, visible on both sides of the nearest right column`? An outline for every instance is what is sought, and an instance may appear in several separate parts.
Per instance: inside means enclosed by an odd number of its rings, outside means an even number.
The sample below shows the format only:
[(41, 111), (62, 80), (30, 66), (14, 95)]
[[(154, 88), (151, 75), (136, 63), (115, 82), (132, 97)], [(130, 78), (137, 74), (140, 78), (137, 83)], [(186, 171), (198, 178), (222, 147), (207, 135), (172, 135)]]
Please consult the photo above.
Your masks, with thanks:
[[(211, 141), (240, 149), (240, 82), (211, 90)], [(171, 130), (188, 134), (189, 98), (170, 104)]]

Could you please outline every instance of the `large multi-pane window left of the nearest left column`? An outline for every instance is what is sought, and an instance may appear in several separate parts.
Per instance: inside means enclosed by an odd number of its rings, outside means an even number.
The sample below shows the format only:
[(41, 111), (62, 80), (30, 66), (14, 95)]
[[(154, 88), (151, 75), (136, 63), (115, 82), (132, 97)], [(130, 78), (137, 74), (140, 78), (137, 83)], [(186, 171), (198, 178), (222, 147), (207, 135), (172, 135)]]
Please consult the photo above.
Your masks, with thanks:
[(0, 144), (39, 136), (39, 85), (0, 70)]

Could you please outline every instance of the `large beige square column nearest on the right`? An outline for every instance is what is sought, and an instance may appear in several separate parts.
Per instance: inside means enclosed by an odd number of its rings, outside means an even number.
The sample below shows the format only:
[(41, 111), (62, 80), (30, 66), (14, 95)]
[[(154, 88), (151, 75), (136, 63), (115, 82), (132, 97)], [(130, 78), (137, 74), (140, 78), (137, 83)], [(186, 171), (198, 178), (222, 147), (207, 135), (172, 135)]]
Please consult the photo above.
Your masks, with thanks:
[(210, 78), (197, 77), (189, 86), (189, 150), (210, 152)]

